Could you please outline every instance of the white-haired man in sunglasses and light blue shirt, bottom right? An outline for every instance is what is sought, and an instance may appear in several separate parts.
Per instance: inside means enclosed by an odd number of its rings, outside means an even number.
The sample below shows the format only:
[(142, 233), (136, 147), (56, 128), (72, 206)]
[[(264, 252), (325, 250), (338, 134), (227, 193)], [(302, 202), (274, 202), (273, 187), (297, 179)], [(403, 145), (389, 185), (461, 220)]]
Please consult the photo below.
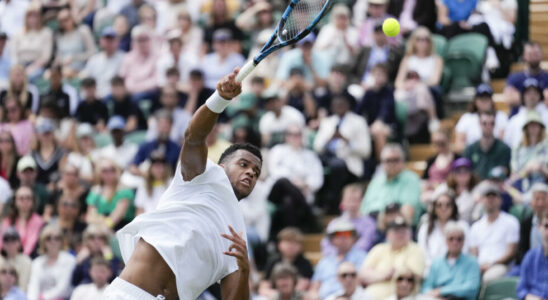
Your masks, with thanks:
[(464, 253), (467, 231), (460, 222), (445, 224), (447, 253), (434, 260), (422, 285), (423, 294), (445, 299), (477, 299), (481, 272), (476, 258)]

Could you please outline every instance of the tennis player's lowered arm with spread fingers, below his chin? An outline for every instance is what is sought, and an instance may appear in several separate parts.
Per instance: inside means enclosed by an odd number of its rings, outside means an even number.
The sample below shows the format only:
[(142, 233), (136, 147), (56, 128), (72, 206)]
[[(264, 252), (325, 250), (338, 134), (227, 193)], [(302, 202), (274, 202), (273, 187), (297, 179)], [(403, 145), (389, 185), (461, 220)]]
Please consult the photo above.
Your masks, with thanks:
[(238, 271), (231, 273), (221, 280), (222, 300), (249, 300), (249, 259), (247, 257), (247, 244), (231, 226), (228, 226), (230, 233), (221, 234), (232, 242), (228, 251), (223, 254), (236, 258)]

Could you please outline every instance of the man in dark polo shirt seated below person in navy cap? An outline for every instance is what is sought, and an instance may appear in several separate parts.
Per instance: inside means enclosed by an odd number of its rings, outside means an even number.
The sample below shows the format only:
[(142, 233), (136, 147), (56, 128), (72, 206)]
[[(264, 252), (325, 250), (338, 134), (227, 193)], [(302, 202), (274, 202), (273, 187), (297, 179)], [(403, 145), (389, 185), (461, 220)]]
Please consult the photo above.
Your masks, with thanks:
[(508, 168), (510, 165), (510, 148), (495, 137), (496, 119), (494, 112), (480, 114), (481, 138), (464, 149), (462, 156), (474, 165), (474, 171), (480, 178), (487, 178), (489, 171), (497, 166)]

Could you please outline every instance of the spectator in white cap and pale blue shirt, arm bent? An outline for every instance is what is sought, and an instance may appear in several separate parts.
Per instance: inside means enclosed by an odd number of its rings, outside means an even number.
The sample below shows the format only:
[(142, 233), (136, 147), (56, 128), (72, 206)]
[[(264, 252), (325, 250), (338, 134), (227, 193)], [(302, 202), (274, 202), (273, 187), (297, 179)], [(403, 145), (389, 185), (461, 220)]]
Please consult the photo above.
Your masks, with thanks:
[(322, 257), (316, 265), (312, 277), (311, 294), (317, 294), (321, 299), (341, 290), (343, 286), (337, 280), (337, 270), (344, 262), (350, 262), (358, 268), (365, 259), (365, 252), (354, 248), (356, 243), (356, 228), (346, 219), (332, 224), (327, 230), (329, 241), (337, 248), (336, 254)]

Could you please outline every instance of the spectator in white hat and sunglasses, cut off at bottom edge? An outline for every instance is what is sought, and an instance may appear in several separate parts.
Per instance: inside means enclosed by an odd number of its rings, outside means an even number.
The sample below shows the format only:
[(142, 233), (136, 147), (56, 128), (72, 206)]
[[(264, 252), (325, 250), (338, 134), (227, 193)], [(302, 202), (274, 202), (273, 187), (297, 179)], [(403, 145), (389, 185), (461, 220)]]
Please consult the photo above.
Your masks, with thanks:
[(358, 271), (351, 262), (344, 262), (337, 270), (337, 277), (341, 286), (340, 291), (331, 294), (326, 300), (338, 300), (338, 297), (345, 296), (349, 300), (372, 300), (358, 281)]

